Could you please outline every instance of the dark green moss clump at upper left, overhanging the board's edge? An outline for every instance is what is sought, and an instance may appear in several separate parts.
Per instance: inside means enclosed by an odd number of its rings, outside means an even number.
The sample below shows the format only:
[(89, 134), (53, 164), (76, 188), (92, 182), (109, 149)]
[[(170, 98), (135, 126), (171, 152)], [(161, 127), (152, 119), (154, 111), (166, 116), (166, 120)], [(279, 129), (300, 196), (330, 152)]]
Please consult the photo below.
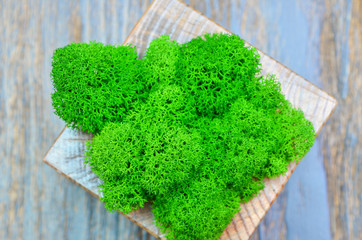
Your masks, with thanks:
[(55, 114), (68, 126), (91, 133), (121, 122), (145, 97), (140, 64), (131, 46), (90, 42), (57, 49), (51, 72)]

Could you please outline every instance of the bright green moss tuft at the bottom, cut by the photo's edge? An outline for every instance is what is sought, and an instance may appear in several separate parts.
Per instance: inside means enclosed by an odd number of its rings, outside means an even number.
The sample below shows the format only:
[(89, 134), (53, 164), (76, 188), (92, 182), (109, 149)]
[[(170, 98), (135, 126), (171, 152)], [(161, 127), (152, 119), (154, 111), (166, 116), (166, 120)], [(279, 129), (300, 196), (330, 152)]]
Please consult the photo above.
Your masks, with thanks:
[(157, 197), (153, 213), (167, 239), (218, 239), (239, 206), (237, 193), (201, 179)]

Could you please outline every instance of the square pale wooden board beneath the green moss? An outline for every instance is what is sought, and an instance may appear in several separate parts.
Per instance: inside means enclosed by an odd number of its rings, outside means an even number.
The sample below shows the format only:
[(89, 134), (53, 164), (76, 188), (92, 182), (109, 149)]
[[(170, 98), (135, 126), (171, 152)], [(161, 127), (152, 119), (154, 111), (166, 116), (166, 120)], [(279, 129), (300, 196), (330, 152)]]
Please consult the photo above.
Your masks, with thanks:
[[(229, 31), (183, 2), (155, 0), (125, 43), (137, 46), (138, 53), (143, 56), (151, 40), (161, 34), (170, 35), (172, 39), (184, 43), (204, 33), (216, 32)], [(319, 133), (336, 107), (336, 100), (263, 52), (259, 51), (259, 53), (263, 74), (277, 76), (287, 99), (294, 107), (303, 110), (306, 118), (313, 123), (316, 132)], [(91, 137), (89, 134), (64, 128), (45, 155), (44, 162), (92, 195), (99, 197), (100, 180), (89, 167), (84, 165), (85, 143)], [(296, 164), (291, 163), (285, 176), (265, 179), (264, 190), (248, 203), (240, 205), (240, 212), (225, 229), (221, 239), (250, 238), (295, 168)], [(149, 205), (125, 216), (152, 235), (165, 238), (155, 227)]]

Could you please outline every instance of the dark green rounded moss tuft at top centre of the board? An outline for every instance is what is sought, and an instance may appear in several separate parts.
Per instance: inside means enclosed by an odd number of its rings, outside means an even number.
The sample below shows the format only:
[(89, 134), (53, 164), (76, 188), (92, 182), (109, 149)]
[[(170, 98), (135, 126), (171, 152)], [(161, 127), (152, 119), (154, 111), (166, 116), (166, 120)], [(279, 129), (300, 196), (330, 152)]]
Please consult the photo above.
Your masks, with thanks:
[(259, 55), (237, 35), (206, 34), (181, 47), (177, 83), (188, 97), (187, 108), (199, 116), (222, 117), (230, 104), (259, 81)]

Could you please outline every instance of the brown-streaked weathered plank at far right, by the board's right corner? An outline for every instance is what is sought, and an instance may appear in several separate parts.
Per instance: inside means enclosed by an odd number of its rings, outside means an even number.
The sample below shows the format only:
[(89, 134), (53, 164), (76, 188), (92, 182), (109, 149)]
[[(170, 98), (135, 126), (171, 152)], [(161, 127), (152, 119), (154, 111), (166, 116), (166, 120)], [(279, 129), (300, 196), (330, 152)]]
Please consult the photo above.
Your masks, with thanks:
[(339, 106), (324, 129), (333, 239), (362, 239), (362, 1), (325, 0), (321, 79)]

